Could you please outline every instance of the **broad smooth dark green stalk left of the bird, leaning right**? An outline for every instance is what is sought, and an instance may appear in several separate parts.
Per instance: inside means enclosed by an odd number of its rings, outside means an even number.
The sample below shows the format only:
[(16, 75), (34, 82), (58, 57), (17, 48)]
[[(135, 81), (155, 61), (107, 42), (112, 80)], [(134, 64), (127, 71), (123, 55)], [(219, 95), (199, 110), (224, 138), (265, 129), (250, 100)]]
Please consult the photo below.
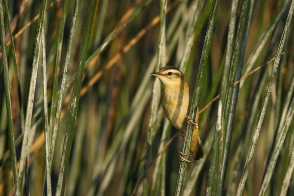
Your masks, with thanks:
[(78, 57), (78, 64), (76, 68), (76, 74), (73, 85), (73, 94), (70, 105), (69, 119), (66, 128), (66, 134), (63, 144), (63, 152), (62, 152), (62, 160), (61, 160), (61, 168), (58, 177), (58, 184), (56, 195), (63, 196), (65, 190), (65, 181), (67, 176), (67, 169), (69, 165), (70, 153), (73, 142), (73, 128), (75, 123), (75, 117), (77, 112), (77, 106), (79, 102), (79, 95), (82, 86), (83, 72), (85, 68), (85, 62), (87, 58), (88, 44), (90, 39), (90, 34), (93, 25), (94, 13), (96, 8), (97, 0), (91, 0), (89, 3), (89, 9), (87, 13), (86, 24), (84, 28), (82, 45)]

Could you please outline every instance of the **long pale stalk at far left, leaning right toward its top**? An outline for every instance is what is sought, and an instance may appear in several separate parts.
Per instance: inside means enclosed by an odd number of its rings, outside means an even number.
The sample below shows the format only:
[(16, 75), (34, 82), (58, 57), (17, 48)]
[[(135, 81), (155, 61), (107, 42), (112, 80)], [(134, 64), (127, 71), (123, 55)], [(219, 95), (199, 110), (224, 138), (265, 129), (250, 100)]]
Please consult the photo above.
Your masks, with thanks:
[(25, 116), (24, 138), (23, 138), (22, 152), (21, 152), (21, 158), (20, 158), (20, 168), (18, 173), (20, 187), (22, 187), (23, 185), (23, 178), (24, 178), (24, 172), (25, 172), (25, 162), (26, 162), (26, 156), (27, 156), (27, 150), (28, 150), (27, 142), (28, 142), (28, 136), (29, 136), (29, 132), (31, 128), (32, 112), (33, 112), (34, 97), (35, 97), (35, 90), (36, 90), (36, 80), (37, 80), (38, 65), (39, 65), (39, 55), (40, 55), (41, 41), (42, 41), (41, 35), (42, 35), (42, 28), (44, 23), (46, 4), (47, 4), (47, 0), (43, 0), (41, 3), (40, 18), (38, 21), (37, 36), (36, 36), (36, 43), (35, 43), (34, 56), (33, 56), (32, 73), (31, 73), (27, 109), (26, 109), (26, 116)]

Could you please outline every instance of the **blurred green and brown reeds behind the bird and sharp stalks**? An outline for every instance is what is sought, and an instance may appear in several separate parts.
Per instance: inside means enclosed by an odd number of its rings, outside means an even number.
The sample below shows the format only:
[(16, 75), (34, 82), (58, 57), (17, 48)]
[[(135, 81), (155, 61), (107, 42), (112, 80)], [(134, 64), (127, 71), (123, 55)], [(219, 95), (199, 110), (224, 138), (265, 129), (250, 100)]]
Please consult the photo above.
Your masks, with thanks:
[[(1, 0), (2, 1), (2, 0)], [(24, 117), (28, 111), (31, 74), (37, 73), (32, 120), (27, 142), (27, 163), (22, 195), (42, 195), (46, 178), (46, 150), (44, 128), (44, 96), (42, 49), (36, 56), (40, 0), (8, 0), (4, 10), (6, 53), (10, 82), (11, 114), (16, 141), (16, 158), (19, 161), (22, 150), (23, 127), (20, 102)], [(149, 75), (158, 69), (157, 52), (160, 34), (164, 33), (166, 65), (179, 67), (187, 54), (185, 76), (194, 89), (205, 35), (209, 25), (212, 0), (168, 0), (166, 9), (166, 31), (161, 30), (162, 0), (97, 0), (96, 7), (89, 6), (93, 0), (80, 0), (76, 9), (76, 26), (72, 34), (71, 54), (68, 56), (68, 76), (63, 85), (60, 119), (54, 156), (52, 157), (51, 186), (55, 195), (62, 163), (65, 133), (73, 90), (73, 81), (79, 73), (84, 36), (89, 36), (86, 47), (85, 70), (81, 82), (80, 98), (75, 122), (73, 121), (73, 142), (69, 149), (69, 167), (66, 173), (65, 195), (174, 195), (180, 167), (179, 150), (182, 138), (173, 137), (177, 130), (166, 123), (162, 106), (152, 99), (154, 78)], [(207, 65), (204, 70), (202, 90), (199, 99), (201, 110), (221, 93), (223, 67), (228, 41), (228, 28), (232, 0), (220, 0)], [(241, 50), (242, 76), (276, 56), (292, 0), (251, 0), (251, 23), (248, 27), (244, 50)], [(42, 0), (42, 3), (44, 0)], [(44, 38), (46, 50), (47, 98), (49, 117), (49, 141), (52, 140), (58, 98), (68, 54), (75, 0), (47, 0), (44, 14)], [(242, 0), (237, 0), (237, 17), (233, 36), (236, 37)], [(94, 13), (93, 21), (87, 15)], [(10, 24), (7, 22), (7, 13)], [(196, 14), (197, 13), (197, 14)], [(197, 18), (196, 18), (197, 16)], [(92, 25), (84, 29), (86, 20)], [(195, 21), (194, 21), (195, 20)], [(272, 29), (269, 26), (272, 25)], [(14, 36), (14, 47), (10, 44), (9, 28)], [(24, 28), (25, 27), (25, 28)], [(192, 29), (192, 30), (191, 30)], [(245, 30), (246, 31), (246, 30)], [(193, 44), (189, 53), (185, 50), (191, 33)], [(285, 141), (276, 141), (279, 124), (284, 111), (293, 108), (294, 76), (294, 25), (291, 22), (285, 52), (281, 56), (273, 83), (269, 104), (265, 113), (260, 135), (243, 194), (258, 195), (267, 173), (267, 159), (271, 150), (281, 142), (270, 184), (265, 193), (268, 196), (280, 194), (284, 177), (294, 159), (293, 115), (286, 115), (290, 125), (285, 131)], [(265, 38), (265, 33), (268, 37)], [(245, 33), (246, 34), (246, 33)], [(84, 38), (86, 39), (86, 38)], [(263, 40), (264, 43), (260, 43)], [(82, 42), (83, 41), (83, 42)], [(233, 41), (233, 43), (235, 40)], [(242, 40), (241, 40), (242, 42)], [(42, 45), (42, 44), (41, 44)], [(256, 48), (260, 46), (260, 50)], [(3, 45), (1, 44), (1, 51)], [(44, 51), (43, 51), (44, 52)], [(3, 54), (1, 53), (1, 59)], [(20, 92), (14, 68), (14, 58), (19, 72)], [(34, 58), (40, 59), (39, 66)], [(254, 58), (254, 59), (253, 59)], [(81, 63), (82, 64), (82, 63)], [(251, 67), (250, 67), (251, 66)], [(228, 148), (228, 166), (221, 195), (236, 195), (242, 177), (245, 160), (252, 141), (252, 135), (261, 105), (269, 83), (273, 61), (261, 70), (252, 73), (241, 82), (236, 112), (232, 120), (232, 139)], [(246, 70), (247, 69), (247, 70)], [(245, 72), (246, 70), (246, 72)], [(0, 62), (0, 195), (13, 195), (14, 184), (11, 158), (6, 152), (9, 146), (9, 113), (4, 96), (4, 65)], [(237, 76), (238, 77), (238, 76)], [(235, 77), (234, 77), (235, 78)], [(239, 75), (240, 78), (240, 75)], [(238, 80), (239, 78), (236, 78)], [(261, 79), (263, 78), (263, 79)], [(76, 82), (76, 81), (75, 81)], [(243, 83), (244, 82), (244, 83)], [(79, 91), (79, 89), (78, 89)], [(259, 92), (256, 95), (255, 92)], [(156, 94), (156, 93), (155, 93)], [(157, 93), (158, 96), (158, 93)], [(255, 97), (256, 96), (256, 97)], [(288, 96), (288, 97), (287, 97)], [(288, 99), (287, 99), (288, 98)], [(159, 100), (159, 99), (158, 99)], [(290, 105), (290, 100), (291, 105)], [(218, 102), (213, 102), (199, 118), (199, 134), (206, 156), (200, 161), (188, 164), (184, 184), (184, 195), (205, 195), (208, 171), (211, 164), (210, 149), (218, 113)], [(155, 104), (155, 109), (152, 109)], [(256, 104), (255, 107), (253, 105)], [(254, 109), (252, 109), (254, 108)], [(253, 110), (253, 111), (250, 111)], [(155, 112), (155, 113), (154, 113)], [(150, 118), (153, 118), (150, 123)], [(284, 117), (285, 118), (285, 117)], [(249, 122), (251, 119), (251, 122)], [(27, 120), (27, 119), (25, 119)], [(283, 119), (284, 120), (284, 119)], [(285, 120), (286, 121), (286, 120)], [(56, 123), (56, 122), (55, 122)], [(150, 125), (151, 124), (151, 125)], [(152, 131), (150, 131), (152, 130)], [(211, 133), (211, 134), (210, 134)], [(69, 134), (69, 133), (68, 133)], [(71, 135), (70, 135), (71, 137)], [(163, 151), (162, 148), (173, 137)], [(225, 140), (225, 138), (224, 138)], [(148, 141), (148, 143), (147, 143)], [(208, 142), (210, 141), (210, 142)], [(149, 149), (147, 149), (149, 147)], [(51, 151), (52, 152), (52, 151)], [(148, 153), (147, 153), (148, 152)], [(157, 156), (157, 154), (160, 154)], [(292, 156), (291, 156), (292, 153)], [(290, 161), (292, 160), (292, 162)], [(269, 162), (269, 161), (268, 161)], [(220, 164), (220, 163), (219, 163)], [(289, 165), (289, 167), (288, 167)], [(293, 169), (293, 167), (292, 167)], [(293, 170), (292, 170), (293, 172)], [(292, 174), (289, 171), (290, 175)], [(194, 176), (196, 174), (196, 176)], [(291, 179), (291, 178), (290, 178)], [(190, 184), (189, 184), (190, 182)], [(287, 189), (286, 189), (287, 191)], [(136, 192), (136, 193), (135, 193)], [(294, 178), (289, 185), (288, 195), (294, 195)], [(58, 195), (58, 194), (57, 194)]]

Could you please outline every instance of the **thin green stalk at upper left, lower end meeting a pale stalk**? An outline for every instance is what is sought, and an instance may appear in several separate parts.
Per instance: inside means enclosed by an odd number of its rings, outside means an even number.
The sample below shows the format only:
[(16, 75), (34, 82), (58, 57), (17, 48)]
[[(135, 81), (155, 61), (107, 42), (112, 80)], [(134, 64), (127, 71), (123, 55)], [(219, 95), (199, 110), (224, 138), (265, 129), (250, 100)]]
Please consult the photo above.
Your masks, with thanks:
[(10, 46), (12, 47), (12, 57), (13, 57), (13, 65), (14, 65), (14, 72), (16, 77), (16, 83), (17, 83), (17, 90), (18, 90), (18, 99), (20, 104), (20, 110), (21, 110), (21, 126), (22, 126), (22, 132), (25, 130), (25, 114), (24, 114), (24, 103), (23, 103), (23, 96), (22, 96), (22, 90), (21, 90), (21, 82), (20, 82), (20, 74), (17, 67), (17, 61), (16, 61), (16, 53), (15, 53), (15, 47), (14, 47), (14, 41), (13, 41), (13, 35), (11, 31), (11, 23), (10, 23), (10, 17), (8, 12), (8, 5), (7, 0), (4, 0), (4, 9), (6, 13), (6, 19), (7, 19), (7, 26), (10, 36)]

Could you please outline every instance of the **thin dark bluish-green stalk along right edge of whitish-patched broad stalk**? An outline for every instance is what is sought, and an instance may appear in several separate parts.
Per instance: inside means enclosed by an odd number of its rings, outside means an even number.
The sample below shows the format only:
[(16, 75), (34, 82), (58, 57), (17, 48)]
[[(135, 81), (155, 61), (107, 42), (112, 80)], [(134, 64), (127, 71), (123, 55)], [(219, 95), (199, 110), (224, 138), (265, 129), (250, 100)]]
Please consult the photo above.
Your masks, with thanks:
[[(249, 27), (250, 27), (252, 15), (253, 15), (254, 4), (255, 4), (255, 0), (250, 0), (235, 81), (241, 78), (242, 65), (243, 65), (243, 60), (245, 56), (245, 49), (247, 44)], [(221, 169), (221, 193), (223, 193), (223, 186), (224, 186), (225, 175), (226, 175), (226, 170), (228, 165), (229, 152), (230, 152), (231, 141), (232, 141), (233, 123), (234, 123), (237, 100), (239, 95), (239, 88), (240, 88), (240, 83), (238, 83), (237, 85), (234, 85), (233, 98), (232, 98), (231, 109), (229, 113), (229, 119), (228, 119), (228, 126), (227, 128), (225, 128), (227, 129), (227, 133), (225, 135), (224, 155), (223, 155), (222, 169)]]

